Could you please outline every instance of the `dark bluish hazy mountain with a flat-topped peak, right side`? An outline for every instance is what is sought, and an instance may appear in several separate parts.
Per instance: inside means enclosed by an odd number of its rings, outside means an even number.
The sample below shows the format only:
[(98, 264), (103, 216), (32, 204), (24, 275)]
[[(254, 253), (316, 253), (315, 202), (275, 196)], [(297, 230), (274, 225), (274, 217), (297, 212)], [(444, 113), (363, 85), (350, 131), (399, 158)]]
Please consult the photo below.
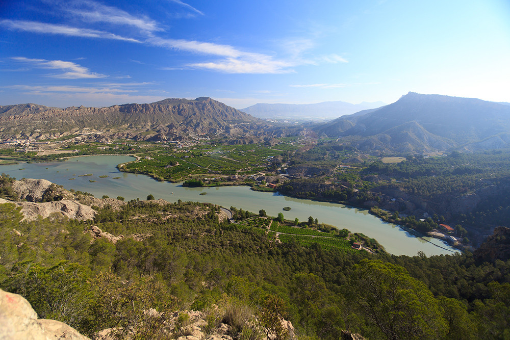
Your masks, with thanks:
[(381, 151), (490, 149), (510, 146), (510, 106), (474, 98), (410, 92), (377, 110), (316, 126), (318, 134)]

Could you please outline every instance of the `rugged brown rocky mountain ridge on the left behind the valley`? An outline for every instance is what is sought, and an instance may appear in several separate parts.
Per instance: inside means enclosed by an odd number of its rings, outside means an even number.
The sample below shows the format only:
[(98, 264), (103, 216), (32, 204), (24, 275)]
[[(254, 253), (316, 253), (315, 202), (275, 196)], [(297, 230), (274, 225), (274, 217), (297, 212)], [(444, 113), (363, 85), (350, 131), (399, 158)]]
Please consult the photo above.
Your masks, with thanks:
[(80, 132), (153, 140), (204, 135), (245, 137), (268, 126), (266, 121), (206, 97), (164, 99), (108, 108), (59, 109), (35, 104), (0, 106), (0, 138), (45, 139)]

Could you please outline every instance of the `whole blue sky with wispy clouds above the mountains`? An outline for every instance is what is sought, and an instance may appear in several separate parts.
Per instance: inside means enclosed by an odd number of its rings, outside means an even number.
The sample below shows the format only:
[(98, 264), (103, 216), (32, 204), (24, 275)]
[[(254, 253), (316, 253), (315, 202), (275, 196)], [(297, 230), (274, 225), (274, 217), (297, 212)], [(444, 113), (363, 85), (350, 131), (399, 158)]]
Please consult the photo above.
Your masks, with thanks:
[(510, 2), (0, 2), (0, 104), (510, 102)]

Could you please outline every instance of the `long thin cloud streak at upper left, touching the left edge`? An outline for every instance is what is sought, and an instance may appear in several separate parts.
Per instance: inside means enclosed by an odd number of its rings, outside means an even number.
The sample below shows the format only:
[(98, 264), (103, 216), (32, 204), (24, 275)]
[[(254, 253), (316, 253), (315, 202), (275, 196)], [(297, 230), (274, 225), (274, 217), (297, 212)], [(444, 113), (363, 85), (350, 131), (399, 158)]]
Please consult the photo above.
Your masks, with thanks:
[(0, 20), (0, 25), (7, 27), (10, 30), (33, 32), (41, 34), (58, 34), (70, 37), (84, 37), (84, 38), (100, 38), (100, 39), (113, 39), (123, 40), (129, 42), (140, 42), (133, 38), (122, 37), (113, 33), (82, 29), (76, 27), (70, 27), (66, 25), (59, 25), (53, 23), (45, 23), (38, 21), (27, 21), (27, 20)]

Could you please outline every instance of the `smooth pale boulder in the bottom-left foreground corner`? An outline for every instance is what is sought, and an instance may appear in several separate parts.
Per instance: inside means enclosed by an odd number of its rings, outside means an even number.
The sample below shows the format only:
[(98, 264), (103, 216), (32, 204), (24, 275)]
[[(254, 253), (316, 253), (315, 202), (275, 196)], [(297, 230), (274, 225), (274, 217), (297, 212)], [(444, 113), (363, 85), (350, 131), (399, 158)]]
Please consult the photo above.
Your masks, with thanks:
[(2, 340), (90, 340), (74, 328), (55, 320), (37, 319), (21, 295), (0, 289), (0, 338)]

